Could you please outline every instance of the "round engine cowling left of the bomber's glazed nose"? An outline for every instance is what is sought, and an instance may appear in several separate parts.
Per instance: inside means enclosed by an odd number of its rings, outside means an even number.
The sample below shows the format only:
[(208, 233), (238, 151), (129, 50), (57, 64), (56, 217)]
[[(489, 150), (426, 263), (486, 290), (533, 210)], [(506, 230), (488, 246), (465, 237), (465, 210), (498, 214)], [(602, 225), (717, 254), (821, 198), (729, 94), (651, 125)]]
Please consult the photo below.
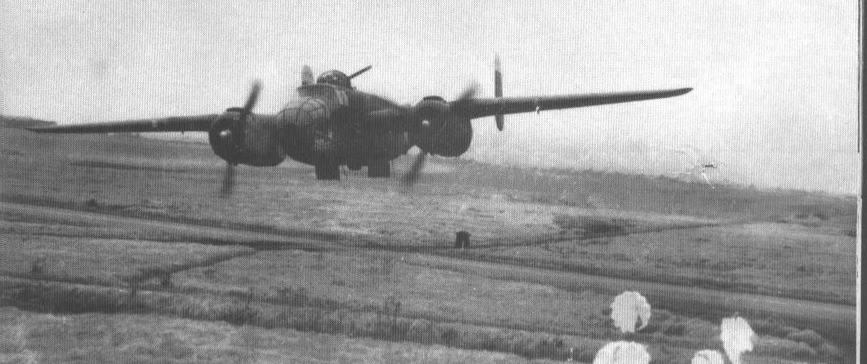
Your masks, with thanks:
[[(277, 166), (283, 161), (281, 153), (262, 153), (258, 149), (272, 150), (255, 143), (248, 133), (257, 125), (255, 114), (244, 114), (241, 107), (231, 107), (221, 114), (208, 131), (211, 148), (220, 158), (229, 163), (251, 166)], [(264, 141), (264, 140), (263, 140)]]

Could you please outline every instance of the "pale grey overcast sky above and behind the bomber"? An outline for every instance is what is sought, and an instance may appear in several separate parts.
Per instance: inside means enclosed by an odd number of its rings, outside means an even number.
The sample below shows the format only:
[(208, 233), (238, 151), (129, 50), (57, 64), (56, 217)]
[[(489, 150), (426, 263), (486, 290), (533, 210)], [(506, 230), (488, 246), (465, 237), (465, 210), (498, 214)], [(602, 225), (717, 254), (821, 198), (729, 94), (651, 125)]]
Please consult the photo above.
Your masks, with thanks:
[[(476, 120), (467, 156), (662, 174), (694, 146), (714, 179), (856, 192), (857, 2), (270, 3), (0, 0), (0, 111), (61, 123), (275, 112), (303, 64), (414, 103), (492, 59), (506, 95), (692, 87), (659, 101)], [(448, 2), (457, 3), (457, 2)]]

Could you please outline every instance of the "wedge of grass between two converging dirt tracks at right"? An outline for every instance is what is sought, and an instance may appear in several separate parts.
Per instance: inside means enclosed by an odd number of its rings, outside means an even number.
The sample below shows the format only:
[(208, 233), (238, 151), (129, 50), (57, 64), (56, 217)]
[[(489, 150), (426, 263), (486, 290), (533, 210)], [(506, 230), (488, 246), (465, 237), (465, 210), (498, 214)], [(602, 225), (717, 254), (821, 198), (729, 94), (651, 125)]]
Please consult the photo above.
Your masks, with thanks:
[[(855, 304), (853, 239), (799, 224), (725, 224), (461, 252), (490, 262)], [(849, 252), (847, 252), (849, 251)]]

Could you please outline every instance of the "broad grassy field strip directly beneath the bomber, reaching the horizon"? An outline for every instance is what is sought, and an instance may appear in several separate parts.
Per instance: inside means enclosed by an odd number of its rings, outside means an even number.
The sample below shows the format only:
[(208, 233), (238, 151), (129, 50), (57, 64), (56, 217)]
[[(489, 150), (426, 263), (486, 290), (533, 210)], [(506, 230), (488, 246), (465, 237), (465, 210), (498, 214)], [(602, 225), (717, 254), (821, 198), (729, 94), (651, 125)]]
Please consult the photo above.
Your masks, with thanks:
[[(400, 193), (396, 179), (368, 179), (363, 171), (333, 182), (316, 181), (311, 166), (292, 161), (277, 168), (242, 166), (236, 194), (225, 201), (216, 198), (224, 162), (205, 144), (7, 128), (3, 149), (7, 201), (264, 230), (374, 234), (402, 244), (441, 243), (452, 238), (444, 231), (460, 228), (480, 240), (559, 234), (557, 218), (564, 215), (670, 225), (854, 216), (856, 209), (854, 198), (737, 186), (713, 190), (674, 179), (544, 172), (460, 159), (432, 159), (429, 169), (443, 172), (422, 176), (409, 195)], [(394, 174), (409, 162), (396, 161)], [(564, 196), (550, 198), (555, 193)], [(578, 193), (592, 203), (570, 198)]]

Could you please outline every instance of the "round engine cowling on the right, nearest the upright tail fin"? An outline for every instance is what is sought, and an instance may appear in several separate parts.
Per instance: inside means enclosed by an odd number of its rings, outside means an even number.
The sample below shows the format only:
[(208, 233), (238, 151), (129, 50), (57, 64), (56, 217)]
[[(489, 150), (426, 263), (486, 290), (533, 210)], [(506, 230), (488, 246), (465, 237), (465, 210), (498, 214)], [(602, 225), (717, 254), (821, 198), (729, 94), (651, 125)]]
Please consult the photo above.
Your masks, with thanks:
[(469, 149), (473, 140), (470, 119), (453, 113), (441, 97), (425, 97), (415, 106), (414, 114), (417, 120), (414, 141), (421, 150), (457, 157)]

